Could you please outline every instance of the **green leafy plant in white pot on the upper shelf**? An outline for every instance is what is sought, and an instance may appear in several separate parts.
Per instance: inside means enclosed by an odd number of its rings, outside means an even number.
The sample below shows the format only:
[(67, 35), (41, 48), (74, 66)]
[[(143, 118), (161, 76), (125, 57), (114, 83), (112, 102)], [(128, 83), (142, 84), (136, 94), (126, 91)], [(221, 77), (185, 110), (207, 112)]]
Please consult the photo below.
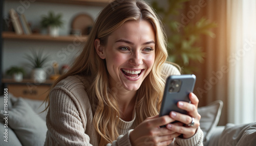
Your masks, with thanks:
[(49, 11), (48, 15), (42, 15), (41, 27), (48, 29), (48, 34), (57, 37), (59, 36), (59, 28), (62, 27), (62, 14), (54, 14), (54, 12)]

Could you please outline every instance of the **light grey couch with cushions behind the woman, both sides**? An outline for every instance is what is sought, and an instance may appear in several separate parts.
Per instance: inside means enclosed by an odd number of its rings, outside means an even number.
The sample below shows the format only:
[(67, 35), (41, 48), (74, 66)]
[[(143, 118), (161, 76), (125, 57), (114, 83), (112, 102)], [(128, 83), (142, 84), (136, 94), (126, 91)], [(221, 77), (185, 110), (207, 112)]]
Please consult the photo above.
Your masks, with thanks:
[[(0, 145), (44, 145), (46, 138), (46, 112), (42, 101), (8, 96), (8, 135), (6, 135), (6, 115), (4, 96), (0, 96)], [(217, 126), (223, 103), (215, 101), (198, 109), (202, 118), (200, 127), (204, 132), (204, 145), (254, 145), (256, 124)], [(251, 138), (254, 137), (254, 138)], [(8, 142), (5, 139), (8, 138)], [(247, 142), (247, 144), (244, 144)]]

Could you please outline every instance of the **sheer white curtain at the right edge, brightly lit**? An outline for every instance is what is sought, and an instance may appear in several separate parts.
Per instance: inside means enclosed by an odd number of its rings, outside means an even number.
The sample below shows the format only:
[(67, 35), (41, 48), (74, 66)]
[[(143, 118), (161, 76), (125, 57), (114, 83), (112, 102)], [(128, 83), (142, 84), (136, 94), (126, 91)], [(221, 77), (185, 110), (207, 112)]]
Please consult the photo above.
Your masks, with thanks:
[(256, 1), (227, 0), (228, 122), (256, 121)]

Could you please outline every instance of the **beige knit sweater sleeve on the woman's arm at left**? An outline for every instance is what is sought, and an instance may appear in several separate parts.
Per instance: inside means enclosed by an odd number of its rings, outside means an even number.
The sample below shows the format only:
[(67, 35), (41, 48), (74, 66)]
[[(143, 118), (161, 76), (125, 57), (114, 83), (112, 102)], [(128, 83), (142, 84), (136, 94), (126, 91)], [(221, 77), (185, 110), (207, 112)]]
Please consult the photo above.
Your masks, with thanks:
[(74, 101), (60, 89), (50, 93), (45, 145), (92, 145)]

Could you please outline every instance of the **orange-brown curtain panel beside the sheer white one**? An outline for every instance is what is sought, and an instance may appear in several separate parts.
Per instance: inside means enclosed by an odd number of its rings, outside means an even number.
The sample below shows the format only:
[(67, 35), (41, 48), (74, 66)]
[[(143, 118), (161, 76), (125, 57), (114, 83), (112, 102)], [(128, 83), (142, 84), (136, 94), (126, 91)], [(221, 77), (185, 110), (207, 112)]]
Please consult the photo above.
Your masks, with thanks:
[[(227, 5), (226, 1), (203, 1), (191, 0), (186, 3), (182, 14), (186, 15), (192, 8), (200, 7), (200, 11), (195, 13), (190, 22), (196, 23), (200, 18), (204, 17), (211, 22), (216, 22), (217, 27), (212, 29), (215, 38), (202, 36), (201, 42), (198, 43), (205, 52), (203, 63), (191, 63), (196, 66), (199, 71), (194, 72), (197, 76), (194, 93), (199, 98), (199, 107), (206, 106), (216, 100), (222, 100), (224, 105), (220, 117), (219, 125), (225, 125), (228, 120), (227, 114), (227, 94), (228, 94), (228, 62), (227, 56), (229, 50), (227, 48)], [(197, 7), (198, 8), (198, 7)]]

